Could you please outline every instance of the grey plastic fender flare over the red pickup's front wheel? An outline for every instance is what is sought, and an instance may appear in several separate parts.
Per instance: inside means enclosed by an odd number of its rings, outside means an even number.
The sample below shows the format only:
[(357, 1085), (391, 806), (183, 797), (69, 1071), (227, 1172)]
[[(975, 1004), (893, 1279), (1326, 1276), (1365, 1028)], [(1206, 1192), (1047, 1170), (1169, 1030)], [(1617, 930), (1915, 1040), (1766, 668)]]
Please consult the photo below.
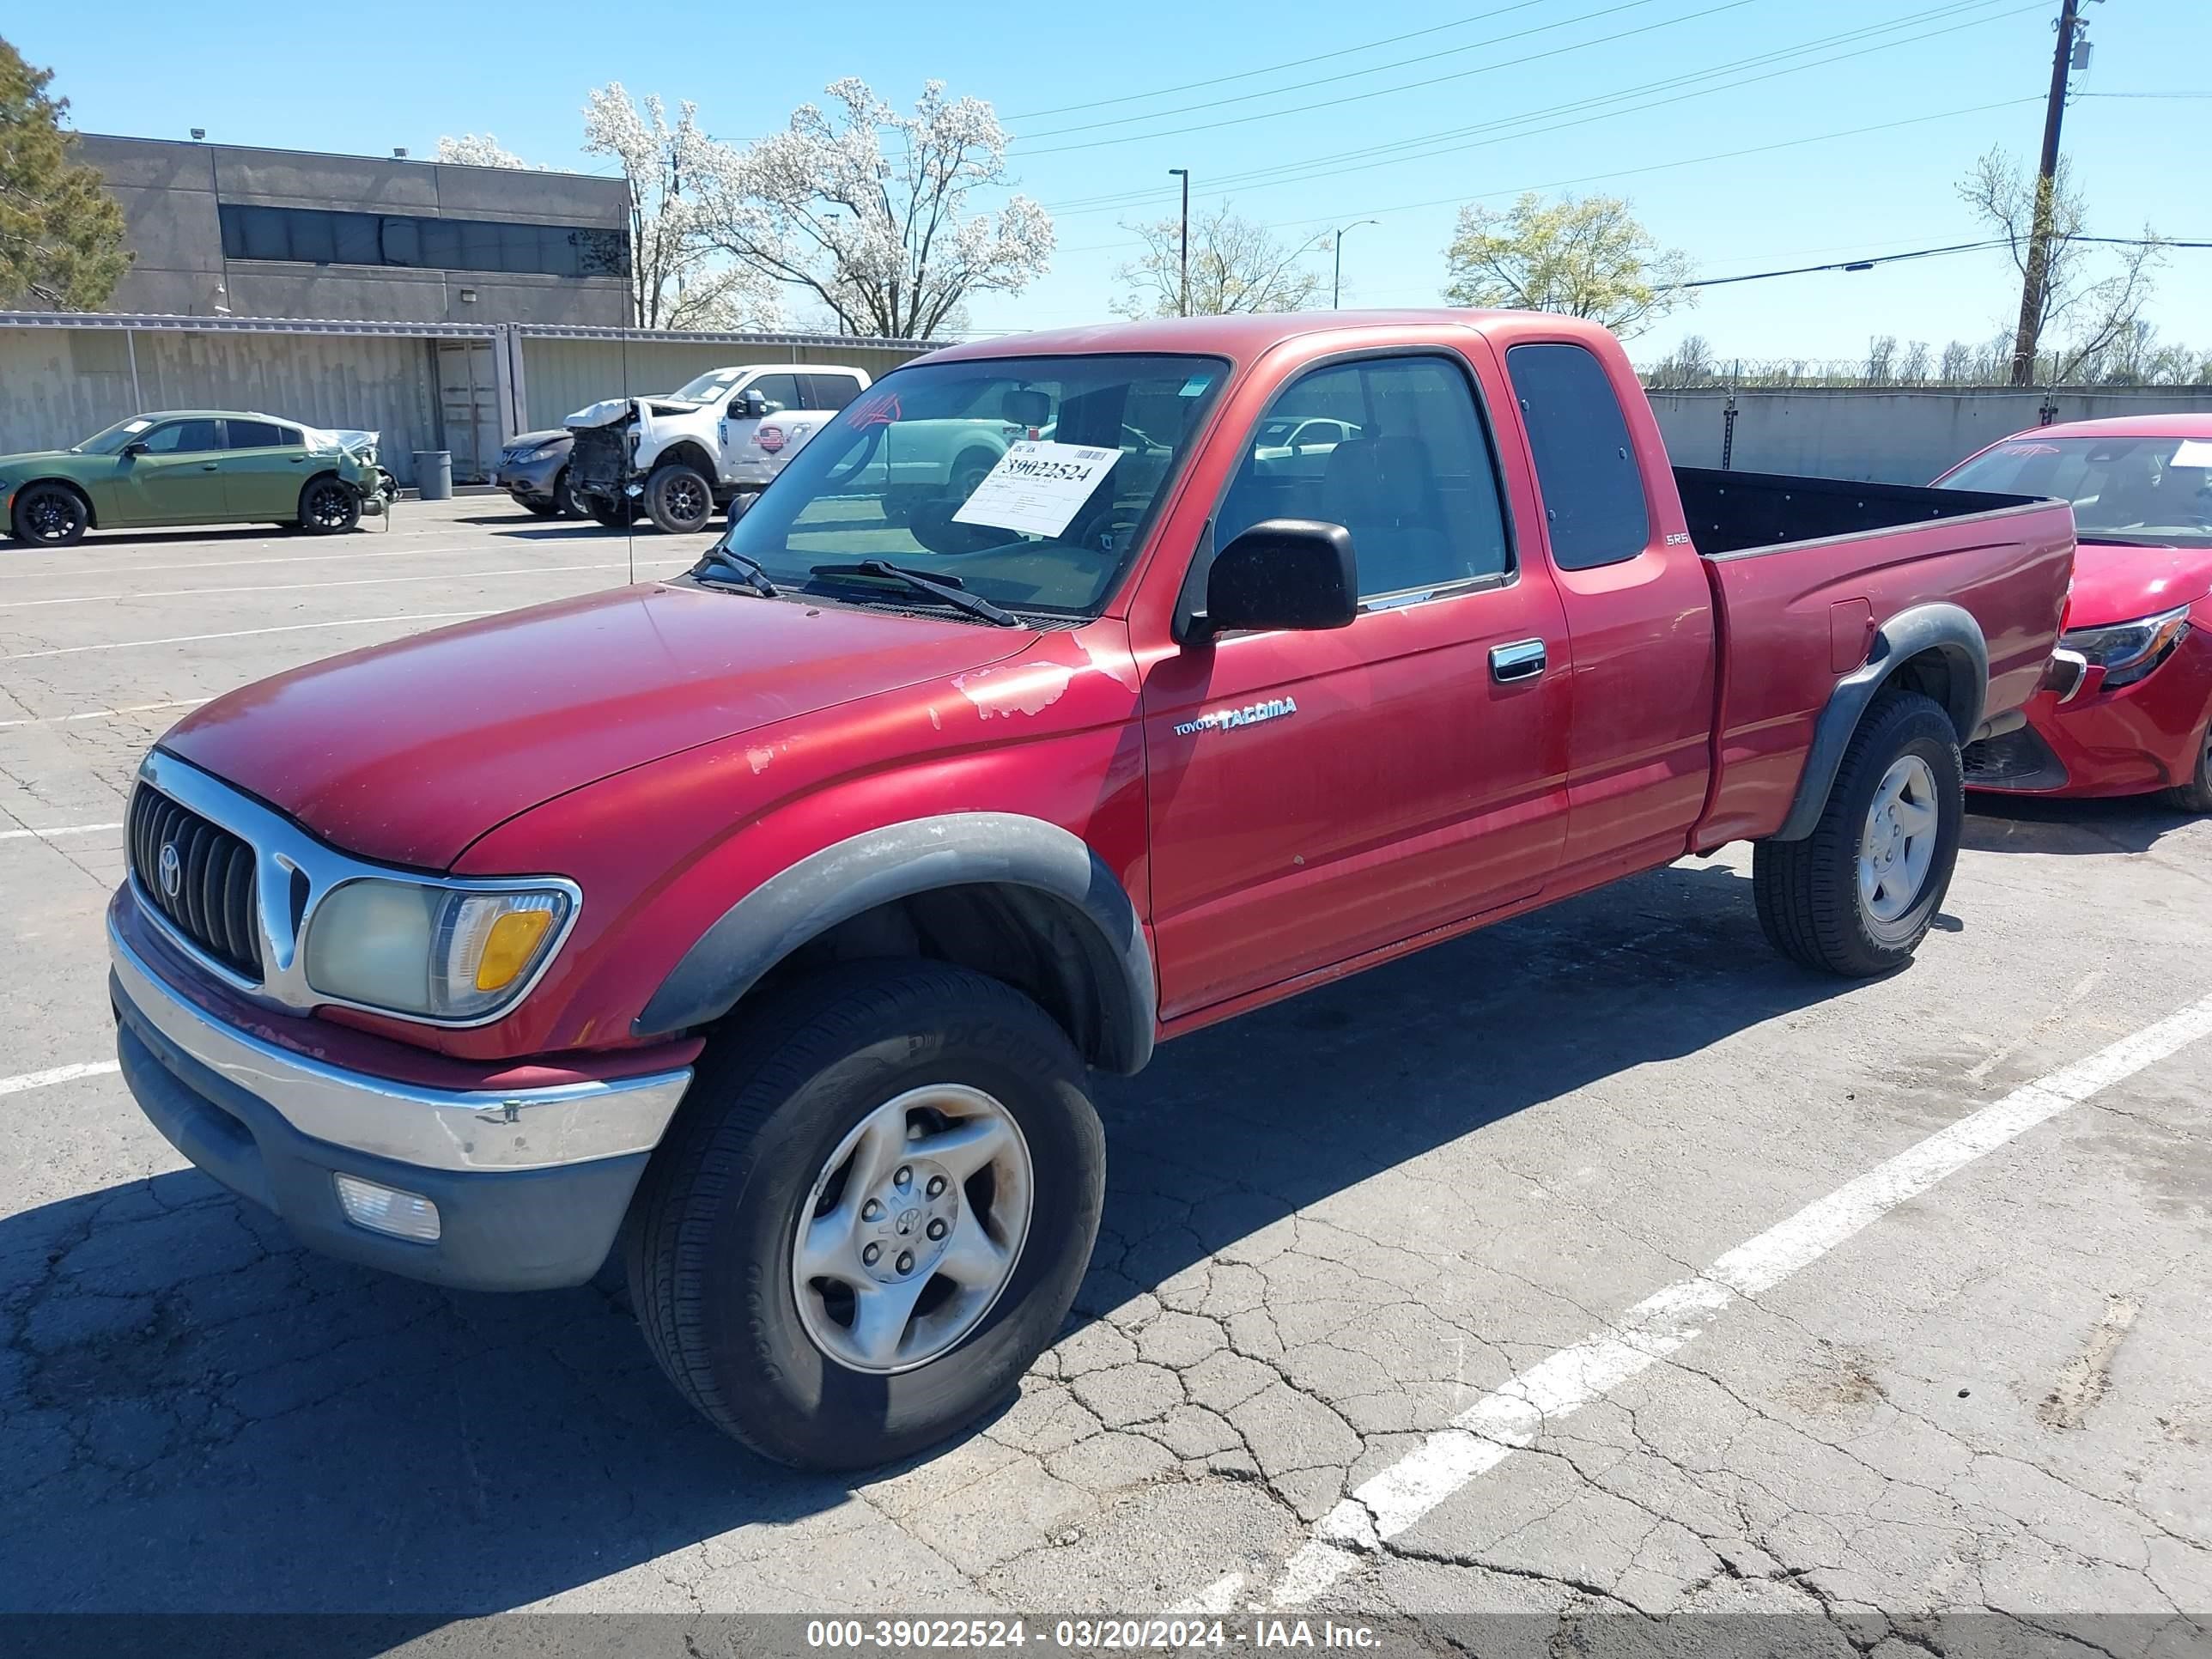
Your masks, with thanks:
[(1088, 920), (1088, 969), (1106, 1015), (1099, 1060), (1121, 1073), (1141, 1068), (1152, 1057), (1159, 987), (1137, 907), (1079, 836), (1013, 812), (891, 823), (801, 858), (714, 918), (630, 1029), (648, 1037), (719, 1020), (825, 929), (894, 898), (984, 883), (1033, 887)]

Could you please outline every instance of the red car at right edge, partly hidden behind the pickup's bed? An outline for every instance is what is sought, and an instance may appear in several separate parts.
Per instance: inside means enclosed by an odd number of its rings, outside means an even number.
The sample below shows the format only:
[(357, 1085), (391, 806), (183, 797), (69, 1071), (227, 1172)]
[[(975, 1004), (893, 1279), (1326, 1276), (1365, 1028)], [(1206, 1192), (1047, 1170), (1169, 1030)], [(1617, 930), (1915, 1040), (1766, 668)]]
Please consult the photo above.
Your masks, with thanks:
[(2062, 666), (2028, 723), (1966, 750), (1966, 787), (2148, 794), (2212, 812), (2212, 414), (2037, 427), (1936, 480), (2059, 495), (2081, 551)]

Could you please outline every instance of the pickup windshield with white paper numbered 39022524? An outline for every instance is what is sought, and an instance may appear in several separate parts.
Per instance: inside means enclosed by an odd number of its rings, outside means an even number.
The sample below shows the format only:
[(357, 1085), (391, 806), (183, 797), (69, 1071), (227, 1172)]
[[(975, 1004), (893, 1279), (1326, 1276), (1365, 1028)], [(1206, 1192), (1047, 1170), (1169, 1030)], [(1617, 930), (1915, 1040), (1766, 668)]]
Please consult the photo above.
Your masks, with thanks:
[(1093, 617), (1225, 380), (1203, 356), (918, 363), (814, 434), (723, 544), (779, 588), (936, 604), (849, 575), (887, 560), (1006, 611)]

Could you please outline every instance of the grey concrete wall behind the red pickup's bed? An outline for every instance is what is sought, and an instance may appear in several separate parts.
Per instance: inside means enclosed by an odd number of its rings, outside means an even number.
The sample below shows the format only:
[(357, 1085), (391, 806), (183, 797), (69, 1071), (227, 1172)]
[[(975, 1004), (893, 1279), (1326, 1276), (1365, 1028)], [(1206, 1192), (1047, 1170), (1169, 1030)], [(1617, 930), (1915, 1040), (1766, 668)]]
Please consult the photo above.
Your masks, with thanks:
[[(2057, 420), (2212, 409), (2212, 387), (2062, 389)], [(2039, 422), (2044, 392), (1978, 387), (1882, 392), (1776, 387), (1736, 392), (1739, 471), (1924, 484), (2011, 431)], [(1728, 392), (1655, 392), (1668, 453), (1683, 467), (1719, 467)]]

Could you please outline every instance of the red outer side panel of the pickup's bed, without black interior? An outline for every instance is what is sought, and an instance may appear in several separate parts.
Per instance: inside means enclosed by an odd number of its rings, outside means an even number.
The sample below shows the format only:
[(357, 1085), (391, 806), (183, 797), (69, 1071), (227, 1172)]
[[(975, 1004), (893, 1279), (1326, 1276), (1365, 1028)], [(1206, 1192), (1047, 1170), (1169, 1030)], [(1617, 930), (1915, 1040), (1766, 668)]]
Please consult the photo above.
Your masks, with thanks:
[(2066, 502), (2022, 502), (1708, 555), (1721, 692), (1714, 790), (1694, 843), (1781, 827), (1829, 695), (1889, 650), (1882, 626), (1907, 611), (1958, 606), (1980, 626), (1989, 688), (1973, 719), (2022, 708), (2057, 646), (2073, 549)]

